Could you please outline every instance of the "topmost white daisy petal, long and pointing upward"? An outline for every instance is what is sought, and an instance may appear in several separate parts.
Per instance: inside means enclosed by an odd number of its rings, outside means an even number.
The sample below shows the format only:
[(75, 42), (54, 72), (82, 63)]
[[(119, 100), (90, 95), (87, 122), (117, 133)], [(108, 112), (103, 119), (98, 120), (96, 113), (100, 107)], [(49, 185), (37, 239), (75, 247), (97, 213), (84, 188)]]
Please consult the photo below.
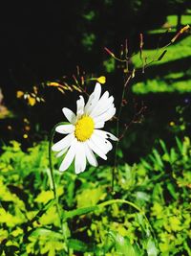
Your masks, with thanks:
[(101, 94), (101, 85), (100, 85), (100, 83), (96, 82), (95, 90), (90, 95), (89, 100), (88, 100), (87, 104), (85, 105), (85, 108), (84, 108), (85, 114), (89, 115), (90, 112), (92, 111), (92, 109), (94, 109), (94, 107), (96, 106), (96, 104), (99, 100), (100, 94)]

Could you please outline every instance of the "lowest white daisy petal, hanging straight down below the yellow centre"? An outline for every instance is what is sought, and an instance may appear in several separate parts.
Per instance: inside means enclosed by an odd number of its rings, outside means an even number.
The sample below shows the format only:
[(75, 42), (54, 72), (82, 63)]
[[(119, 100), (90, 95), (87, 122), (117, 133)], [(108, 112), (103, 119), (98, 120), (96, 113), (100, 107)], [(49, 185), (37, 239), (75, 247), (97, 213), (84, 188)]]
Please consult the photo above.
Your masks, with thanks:
[(81, 142), (76, 143), (76, 153), (74, 158), (74, 172), (76, 175), (85, 171), (86, 168), (86, 154), (84, 145)]

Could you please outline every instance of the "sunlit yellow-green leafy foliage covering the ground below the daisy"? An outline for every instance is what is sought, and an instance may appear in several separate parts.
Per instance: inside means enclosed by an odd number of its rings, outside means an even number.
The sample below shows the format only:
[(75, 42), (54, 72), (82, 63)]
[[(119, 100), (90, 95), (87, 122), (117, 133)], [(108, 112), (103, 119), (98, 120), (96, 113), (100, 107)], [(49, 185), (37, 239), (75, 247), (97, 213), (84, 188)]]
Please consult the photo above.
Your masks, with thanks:
[(55, 171), (61, 214), (69, 223), (67, 227), (63, 222), (65, 242), (49, 190), (47, 155), (47, 142), (28, 152), (15, 141), (4, 146), (2, 255), (68, 255), (67, 247), (70, 255), (189, 255), (188, 137), (182, 141), (177, 137), (171, 149), (159, 140), (159, 146), (137, 165), (118, 166), (116, 199), (111, 200), (108, 191), (110, 166), (91, 167), (82, 175), (74, 175), (73, 168), (64, 175)]

